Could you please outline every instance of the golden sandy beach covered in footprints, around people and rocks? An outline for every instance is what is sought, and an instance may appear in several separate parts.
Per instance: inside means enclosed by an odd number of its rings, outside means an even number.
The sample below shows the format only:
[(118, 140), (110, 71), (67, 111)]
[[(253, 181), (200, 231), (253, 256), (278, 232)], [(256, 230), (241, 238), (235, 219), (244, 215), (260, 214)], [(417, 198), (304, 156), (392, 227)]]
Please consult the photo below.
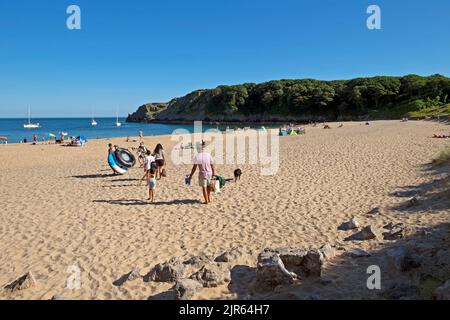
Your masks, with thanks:
[[(384, 251), (393, 241), (344, 241), (353, 232), (337, 227), (352, 216), (378, 230), (390, 222), (404, 223), (407, 235), (398, 242), (431, 244), (436, 259), (448, 257), (449, 238), (443, 235), (449, 233), (450, 198), (438, 191), (446, 172), (427, 165), (450, 147), (450, 139), (430, 136), (448, 134), (450, 127), (426, 121), (331, 126), (331, 130), (307, 126), (304, 136), (280, 137), (280, 168), (275, 176), (262, 176), (259, 166), (240, 165), (241, 181), (228, 183), (209, 205), (200, 202), (196, 184), (184, 184), (189, 165), (169, 161), (167, 178), (158, 182), (155, 204), (146, 201), (147, 189), (139, 185), (142, 169), (136, 166), (129, 175), (111, 175), (107, 144), (138, 145), (124, 138), (92, 140), (84, 148), (0, 145), (0, 284), (27, 271), (37, 282), (26, 290), (2, 291), (0, 298), (158, 298), (173, 284), (135, 280), (117, 285), (116, 280), (134, 267), (144, 275), (171, 258), (215, 257), (240, 246), (243, 255), (229, 265), (232, 283), (204, 288), (195, 299), (242, 299), (250, 294), (262, 249), (319, 248), (325, 243), (337, 252), (326, 261), (322, 275), (332, 282), (325, 286), (305, 281), (287, 289), (286, 296), (380, 298), (379, 292), (366, 288), (368, 265), (389, 271), (383, 273), (383, 288), (411, 275), (387, 266)], [(168, 152), (175, 145), (170, 136), (145, 137), (152, 148), (158, 142)], [(217, 169), (232, 178), (236, 167), (218, 165)], [(416, 193), (420, 204), (406, 209), (404, 203)], [(381, 214), (368, 216), (375, 207)], [(424, 229), (431, 235), (423, 236)], [(350, 248), (372, 256), (351, 259), (343, 250)], [(66, 287), (71, 265), (81, 271), (77, 290)], [(433, 273), (430, 270), (417, 272)], [(448, 272), (448, 265), (439, 272)], [(420, 285), (431, 290), (449, 274), (435, 276)], [(423, 297), (426, 290), (421, 291)]]

